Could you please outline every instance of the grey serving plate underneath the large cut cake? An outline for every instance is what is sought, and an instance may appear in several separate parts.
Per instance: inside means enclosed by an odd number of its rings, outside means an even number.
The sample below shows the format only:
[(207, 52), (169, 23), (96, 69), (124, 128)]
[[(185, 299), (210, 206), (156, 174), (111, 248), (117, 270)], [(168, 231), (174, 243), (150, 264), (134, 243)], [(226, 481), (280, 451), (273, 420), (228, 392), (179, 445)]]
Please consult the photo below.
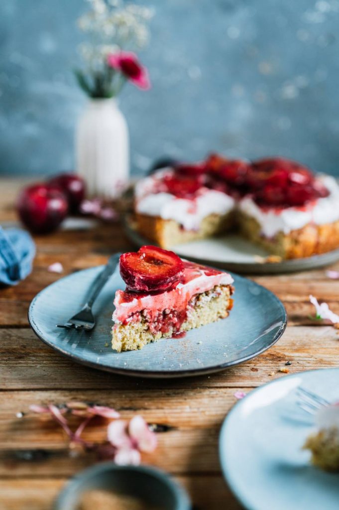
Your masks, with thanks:
[[(136, 246), (153, 244), (153, 241), (146, 239), (136, 231), (132, 215), (127, 214), (124, 217), (123, 224), (127, 237)], [(246, 241), (237, 234), (176, 244), (171, 249), (185, 259), (241, 274), (292, 273), (328, 266), (339, 260), (338, 248), (313, 257), (268, 263), (265, 262), (265, 258), (269, 256), (267, 251)], [(263, 260), (259, 262), (260, 257)]]

